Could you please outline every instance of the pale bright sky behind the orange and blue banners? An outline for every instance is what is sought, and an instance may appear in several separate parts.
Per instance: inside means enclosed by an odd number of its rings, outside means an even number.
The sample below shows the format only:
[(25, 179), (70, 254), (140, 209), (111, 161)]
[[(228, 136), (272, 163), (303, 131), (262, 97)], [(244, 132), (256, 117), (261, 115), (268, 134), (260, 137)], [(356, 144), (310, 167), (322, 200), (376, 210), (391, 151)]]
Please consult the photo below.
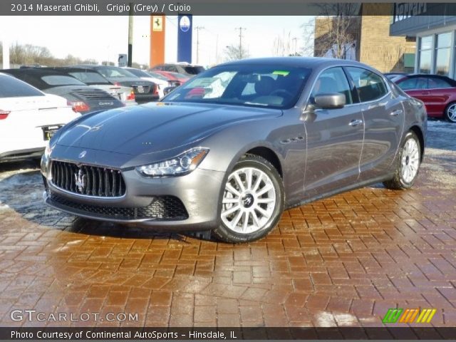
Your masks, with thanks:
[[(312, 21), (309, 16), (194, 16), (193, 26), (199, 31), (199, 63), (212, 65), (223, 61), (224, 48), (239, 44), (236, 27), (243, 32), (243, 45), (252, 57), (272, 56), (274, 38), (284, 37), (299, 50), (305, 41), (301, 25)], [(133, 61), (148, 63), (150, 42), (148, 16), (135, 16)], [(177, 16), (167, 17), (166, 61), (177, 58)], [(0, 40), (46, 46), (57, 57), (69, 53), (98, 61), (117, 61), (118, 53), (127, 52), (128, 16), (3, 16)], [(294, 48), (293, 48), (294, 49)], [(196, 33), (193, 38), (193, 62), (196, 63)]]

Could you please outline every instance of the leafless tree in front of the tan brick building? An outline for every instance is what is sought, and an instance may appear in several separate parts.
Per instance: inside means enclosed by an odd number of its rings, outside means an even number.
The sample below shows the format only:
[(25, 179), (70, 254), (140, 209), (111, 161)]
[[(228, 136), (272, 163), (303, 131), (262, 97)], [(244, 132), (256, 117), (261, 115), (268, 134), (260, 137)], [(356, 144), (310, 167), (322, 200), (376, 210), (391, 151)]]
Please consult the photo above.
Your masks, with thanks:
[(314, 31), (314, 56), (347, 58), (358, 41), (360, 25), (359, 4), (319, 4), (321, 16), (314, 27), (303, 26), (305, 39)]

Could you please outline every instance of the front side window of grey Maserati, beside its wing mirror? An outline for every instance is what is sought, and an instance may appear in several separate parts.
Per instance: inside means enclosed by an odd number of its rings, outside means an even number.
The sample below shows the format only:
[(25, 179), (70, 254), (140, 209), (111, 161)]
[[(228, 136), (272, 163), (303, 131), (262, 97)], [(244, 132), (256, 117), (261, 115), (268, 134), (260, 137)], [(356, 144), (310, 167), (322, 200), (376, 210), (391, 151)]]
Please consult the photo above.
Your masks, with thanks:
[(311, 93), (311, 100), (318, 94), (339, 93), (345, 95), (346, 103), (353, 103), (350, 86), (348, 85), (345, 73), (342, 68), (330, 68), (318, 76), (314, 89)]

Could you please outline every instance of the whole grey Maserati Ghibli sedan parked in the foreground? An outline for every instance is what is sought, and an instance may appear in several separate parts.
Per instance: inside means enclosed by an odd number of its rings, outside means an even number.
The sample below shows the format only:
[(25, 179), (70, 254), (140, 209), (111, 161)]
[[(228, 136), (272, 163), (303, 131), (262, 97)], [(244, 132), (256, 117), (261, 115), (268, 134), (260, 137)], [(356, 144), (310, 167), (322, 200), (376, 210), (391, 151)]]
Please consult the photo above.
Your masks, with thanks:
[(234, 61), (159, 103), (58, 130), (43, 197), (78, 217), (250, 242), (284, 209), (375, 182), (412, 187), (426, 120), (420, 100), (361, 63)]

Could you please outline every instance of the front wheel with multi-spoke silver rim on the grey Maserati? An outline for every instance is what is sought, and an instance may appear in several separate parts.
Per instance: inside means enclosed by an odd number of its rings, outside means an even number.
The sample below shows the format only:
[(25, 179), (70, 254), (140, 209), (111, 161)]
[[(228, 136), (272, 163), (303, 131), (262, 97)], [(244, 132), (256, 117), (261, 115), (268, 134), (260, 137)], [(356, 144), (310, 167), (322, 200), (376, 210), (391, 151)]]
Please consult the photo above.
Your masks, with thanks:
[(214, 236), (229, 243), (252, 242), (266, 236), (284, 210), (284, 185), (270, 162), (244, 155), (224, 185), (220, 224)]

